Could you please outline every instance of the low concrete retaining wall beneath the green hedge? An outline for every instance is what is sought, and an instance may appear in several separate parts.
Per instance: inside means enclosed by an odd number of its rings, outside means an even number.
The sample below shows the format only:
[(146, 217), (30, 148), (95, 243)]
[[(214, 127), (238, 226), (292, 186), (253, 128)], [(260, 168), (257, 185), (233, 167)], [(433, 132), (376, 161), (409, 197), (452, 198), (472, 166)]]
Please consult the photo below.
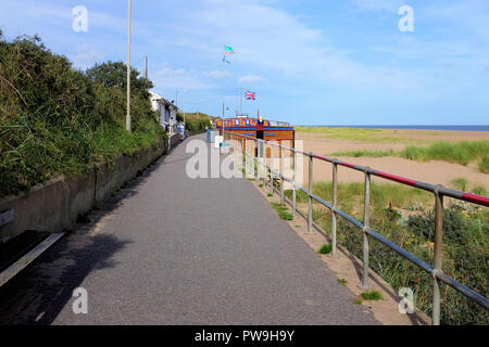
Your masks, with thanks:
[(112, 164), (97, 164), (76, 178), (58, 177), (34, 187), (28, 194), (0, 198), (0, 213), (15, 210), (13, 222), (0, 227), (0, 241), (8, 241), (26, 230), (60, 232), (71, 228), (78, 216), (101, 206), (165, 151), (166, 145), (161, 141), (150, 150), (120, 156)]

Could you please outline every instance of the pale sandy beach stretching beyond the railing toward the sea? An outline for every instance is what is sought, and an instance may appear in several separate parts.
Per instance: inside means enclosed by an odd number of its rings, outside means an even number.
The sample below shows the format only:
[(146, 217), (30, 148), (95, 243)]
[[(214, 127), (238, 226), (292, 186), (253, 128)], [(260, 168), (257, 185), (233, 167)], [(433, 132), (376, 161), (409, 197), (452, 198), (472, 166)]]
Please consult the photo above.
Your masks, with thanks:
[[(444, 130), (409, 130), (409, 129), (386, 129), (368, 134), (371, 140), (352, 140), (339, 138), (321, 132), (306, 132), (298, 130), (296, 140), (303, 141), (303, 149), (319, 155), (331, 156), (335, 152), (349, 152), (359, 150), (368, 151), (401, 151), (408, 145), (429, 145), (436, 141), (477, 141), (489, 140), (489, 132), (485, 131), (444, 131)], [(298, 145), (299, 143), (297, 143)], [(424, 181), (431, 184), (443, 184), (453, 188), (452, 180), (464, 178), (468, 181), (467, 190), (476, 185), (484, 185), (489, 190), (489, 175), (482, 174), (477, 167), (477, 163), (469, 163), (467, 166), (442, 160), (416, 162), (398, 156), (384, 157), (351, 157), (337, 156), (339, 159), (369, 166), (374, 169), (387, 171), (389, 174), (403, 176), (414, 180)], [(308, 166), (304, 165), (304, 180), (308, 178)], [(362, 172), (340, 167), (338, 169), (340, 182), (363, 181)], [(314, 181), (330, 181), (331, 165), (314, 160)], [(374, 178), (378, 182), (388, 182), (380, 178)]]

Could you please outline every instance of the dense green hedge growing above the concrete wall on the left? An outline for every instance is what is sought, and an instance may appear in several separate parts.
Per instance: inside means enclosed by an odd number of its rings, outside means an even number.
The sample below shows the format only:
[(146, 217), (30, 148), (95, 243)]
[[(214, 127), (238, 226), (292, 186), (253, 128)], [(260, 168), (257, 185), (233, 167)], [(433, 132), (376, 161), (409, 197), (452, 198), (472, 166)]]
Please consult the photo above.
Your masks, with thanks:
[(151, 111), (152, 83), (131, 70), (133, 132), (125, 130), (124, 63), (73, 68), (38, 37), (0, 31), (0, 196), (60, 174), (149, 147), (165, 137)]

